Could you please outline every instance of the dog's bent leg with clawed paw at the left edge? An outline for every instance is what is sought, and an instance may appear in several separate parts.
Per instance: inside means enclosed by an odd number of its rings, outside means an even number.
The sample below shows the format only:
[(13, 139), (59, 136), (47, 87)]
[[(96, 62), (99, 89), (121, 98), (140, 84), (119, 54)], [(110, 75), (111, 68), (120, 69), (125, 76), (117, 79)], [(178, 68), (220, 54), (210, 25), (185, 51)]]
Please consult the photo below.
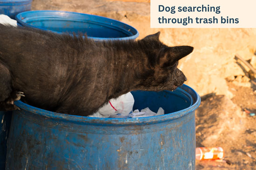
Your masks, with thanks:
[(11, 87), (11, 74), (9, 69), (0, 63), (0, 111), (19, 109), (13, 101), (20, 100), (25, 96), (22, 92), (13, 91)]

